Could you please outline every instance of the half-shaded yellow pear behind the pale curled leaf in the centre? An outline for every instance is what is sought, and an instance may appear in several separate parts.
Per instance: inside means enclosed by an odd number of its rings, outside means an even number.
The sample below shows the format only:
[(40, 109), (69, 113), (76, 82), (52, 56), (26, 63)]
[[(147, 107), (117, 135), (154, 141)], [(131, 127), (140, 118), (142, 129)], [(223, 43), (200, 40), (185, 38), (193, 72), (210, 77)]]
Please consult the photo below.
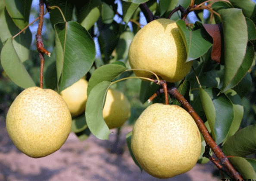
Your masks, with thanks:
[(108, 89), (103, 108), (103, 119), (109, 129), (122, 126), (131, 116), (131, 105), (122, 92)]

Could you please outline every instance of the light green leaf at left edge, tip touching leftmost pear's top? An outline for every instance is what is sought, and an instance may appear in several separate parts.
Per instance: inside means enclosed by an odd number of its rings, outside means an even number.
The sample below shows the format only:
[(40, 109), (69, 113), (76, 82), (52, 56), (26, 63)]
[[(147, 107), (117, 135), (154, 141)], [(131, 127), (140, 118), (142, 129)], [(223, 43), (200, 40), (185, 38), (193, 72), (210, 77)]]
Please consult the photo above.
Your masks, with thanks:
[(18, 86), (24, 89), (35, 86), (34, 81), (28, 74), (22, 61), (19, 59), (12, 42), (12, 38), (9, 38), (3, 45), (1, 51), (0, 60), (3, 70)]

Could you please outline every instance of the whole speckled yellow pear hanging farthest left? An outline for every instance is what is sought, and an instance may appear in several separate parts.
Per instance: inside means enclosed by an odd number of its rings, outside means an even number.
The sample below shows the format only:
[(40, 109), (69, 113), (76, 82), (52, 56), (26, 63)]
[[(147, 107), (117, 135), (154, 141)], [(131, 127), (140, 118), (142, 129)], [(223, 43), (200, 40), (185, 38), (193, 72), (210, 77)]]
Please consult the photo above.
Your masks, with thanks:
[(71, 129), (69, 108), (51, 89), (30, 87), (12, 102), (6, 115), (6, 129), (13, 144), (33, 158), (58, 150)]

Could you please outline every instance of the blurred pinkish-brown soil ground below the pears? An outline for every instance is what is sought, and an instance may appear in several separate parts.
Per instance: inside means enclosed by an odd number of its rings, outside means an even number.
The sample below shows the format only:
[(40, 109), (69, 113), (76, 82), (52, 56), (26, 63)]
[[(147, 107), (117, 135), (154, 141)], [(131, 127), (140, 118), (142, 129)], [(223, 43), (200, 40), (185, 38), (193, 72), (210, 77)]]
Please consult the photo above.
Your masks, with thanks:
[(94, 135), (79, 141), (70, 133), (66, 143), (55, 153), (43, 158), (30, 158), (21, 153), (9, 139), (5, 120), (0, 116), (0, 181), (221, 181), (216, 167), (208, 162), (169, 179), (158, 179), (140, 172), (129, 153), (125, 135), (131, 126), (121, 130), (119, 147), (123, 153), (111, 153), (116, 140), (112, 129), (109, 140)]

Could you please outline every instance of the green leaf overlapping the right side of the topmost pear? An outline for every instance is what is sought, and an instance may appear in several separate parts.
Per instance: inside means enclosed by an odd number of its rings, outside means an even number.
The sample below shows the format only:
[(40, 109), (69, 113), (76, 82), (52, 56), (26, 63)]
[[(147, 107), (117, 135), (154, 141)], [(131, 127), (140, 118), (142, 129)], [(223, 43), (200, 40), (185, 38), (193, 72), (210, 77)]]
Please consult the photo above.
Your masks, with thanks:
[(178, 20), (176, 21), (176, 24), (178, 25), (186, 46), (187, 61), (199, 58), (200, 56), (204, 55), (209, 48), (211, 48), (212, 43), (206, 36), (204, 36), (207, 34), (207, 32), (203, 28), (195, 31), (189, 31), (185, 21)]

